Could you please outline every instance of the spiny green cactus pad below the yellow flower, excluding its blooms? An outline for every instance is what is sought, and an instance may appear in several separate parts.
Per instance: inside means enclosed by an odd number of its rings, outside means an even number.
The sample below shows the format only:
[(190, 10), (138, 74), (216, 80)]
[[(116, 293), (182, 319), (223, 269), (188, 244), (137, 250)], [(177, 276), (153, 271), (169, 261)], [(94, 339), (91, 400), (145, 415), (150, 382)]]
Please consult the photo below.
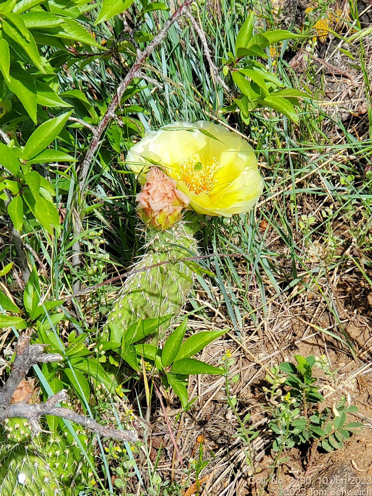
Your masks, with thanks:
[(193, 237), (196, 230), (192, 221), (180, 222), (166, 231), (146, 230), (146, 253), (131, 269), (161, 265), (128, 277), (108, 315), (109, 326), (113, 323), (124, 332), (140, 318), (179, 312), (193, 283), (193, 272), (182, 260), (197, 254)]

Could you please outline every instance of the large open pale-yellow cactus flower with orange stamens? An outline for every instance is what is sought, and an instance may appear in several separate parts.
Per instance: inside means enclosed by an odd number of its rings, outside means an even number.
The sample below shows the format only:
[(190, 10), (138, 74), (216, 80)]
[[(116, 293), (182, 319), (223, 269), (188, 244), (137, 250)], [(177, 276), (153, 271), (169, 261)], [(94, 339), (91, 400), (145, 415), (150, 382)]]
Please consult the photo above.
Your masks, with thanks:
[(204, 121), (177, 122), (147, 132), (130, 148), (126, 165), (142, 184), (149, 167), (161, 167), (190, 200), (189, 206), (205, 215), (247, 212), (263, 189), (247, 141), (222, 125)]

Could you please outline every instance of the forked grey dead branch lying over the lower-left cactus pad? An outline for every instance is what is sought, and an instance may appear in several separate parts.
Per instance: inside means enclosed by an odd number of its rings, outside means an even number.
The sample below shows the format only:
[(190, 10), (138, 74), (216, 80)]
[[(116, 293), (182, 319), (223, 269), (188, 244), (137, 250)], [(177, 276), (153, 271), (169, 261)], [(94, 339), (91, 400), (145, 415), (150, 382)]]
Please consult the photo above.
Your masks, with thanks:
[(30, 345), (30, 338), (21, 335), (15, 348), (15, 359), (9, 377), (3, 387), (0, 388), (0, 421), (9, 417), (22, 417), (27, 419), (34, 433), (41, 430), (39, 419), (44, 415), (54, 415), (65, 420), (70, 420), (76, 424), (86, 427), (94, 434), (104, 437), (112, 437), (121, 441), (136, 441), (135, 431), (118, 431), (109, 427), (101, 426), (93, 419), (79, 415), (78, 413), (58, 406), (58, 403), (66, 400), (66, 391), (62, 389), (59, 393), (51, 396), (43, 403), (18, 402), (10, 404), (11, 398), (18, 384), (26, 375), (27, 371), (37, 363), (59, 362), (62, 356), (57, 353), (44, 353), (45, 344)]

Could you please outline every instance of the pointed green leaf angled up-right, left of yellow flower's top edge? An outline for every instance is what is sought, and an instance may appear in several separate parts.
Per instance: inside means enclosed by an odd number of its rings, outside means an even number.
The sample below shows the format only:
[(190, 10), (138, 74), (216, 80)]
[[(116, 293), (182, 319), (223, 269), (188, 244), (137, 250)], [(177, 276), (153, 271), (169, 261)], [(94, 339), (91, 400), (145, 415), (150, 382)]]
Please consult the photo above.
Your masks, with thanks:
[(24, 158), (29, 160), (41, 153), (59, 135), (72, 112), (66, 112), (40, 124), (28, 138), (23, 148)]

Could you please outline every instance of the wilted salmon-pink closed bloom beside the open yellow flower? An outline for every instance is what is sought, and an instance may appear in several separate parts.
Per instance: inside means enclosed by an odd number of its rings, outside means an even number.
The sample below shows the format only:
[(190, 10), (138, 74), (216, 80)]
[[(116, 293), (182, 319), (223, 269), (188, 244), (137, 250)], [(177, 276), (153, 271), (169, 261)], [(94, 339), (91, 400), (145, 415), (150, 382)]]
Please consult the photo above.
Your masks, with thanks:
[(157, 167), (146, 174), (146, 184), (135, 199), (137, 213), (149, 227), (168, 229), (180, 219), (181, 210), (190, 200), (176, 186), (176, 181)]

